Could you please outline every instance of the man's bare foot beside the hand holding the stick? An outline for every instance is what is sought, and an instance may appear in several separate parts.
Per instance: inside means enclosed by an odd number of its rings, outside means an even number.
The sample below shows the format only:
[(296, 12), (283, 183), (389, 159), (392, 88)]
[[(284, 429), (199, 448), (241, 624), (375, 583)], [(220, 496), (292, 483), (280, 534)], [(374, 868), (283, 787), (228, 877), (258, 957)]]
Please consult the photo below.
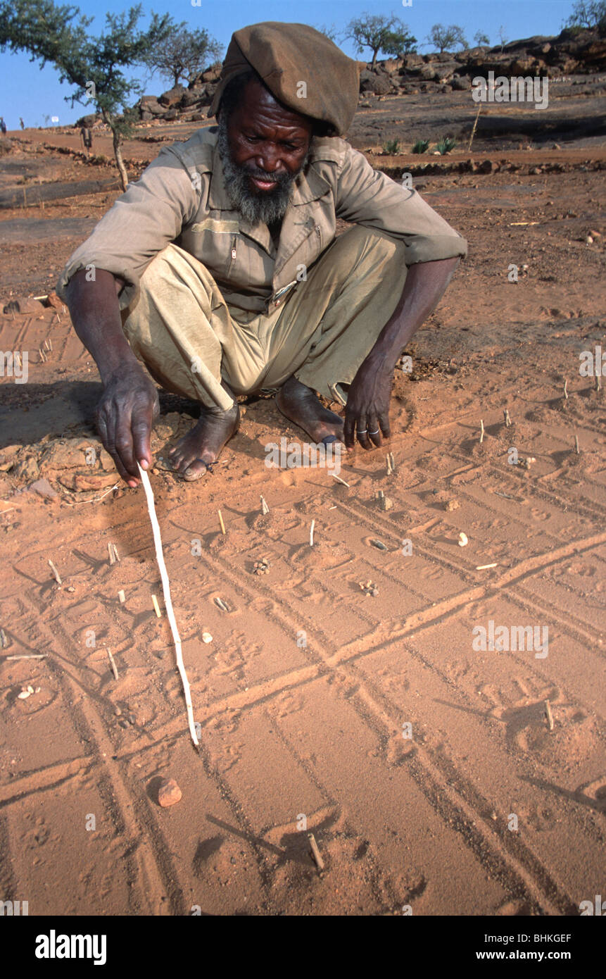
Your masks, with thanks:
[(193, 429), (168, 452), (173, 469), (188, 482), (199, 480), (239, 426), (240, 408), (237, 404), (227, 411), (204, 407)]

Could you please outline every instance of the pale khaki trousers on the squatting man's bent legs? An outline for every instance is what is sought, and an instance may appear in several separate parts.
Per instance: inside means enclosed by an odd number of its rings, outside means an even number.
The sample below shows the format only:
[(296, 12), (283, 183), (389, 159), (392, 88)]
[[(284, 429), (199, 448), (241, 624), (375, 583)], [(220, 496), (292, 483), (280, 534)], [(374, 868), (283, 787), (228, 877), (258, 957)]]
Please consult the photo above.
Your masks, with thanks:
[(329, 246), (269, 313), (228, 307), (207, 268), (168, 245), (122, 314), (135, 356), (167, 391), (227, 409), (234, 395), (278, 389), (294, 374), (347, 402), (364, 357), (394, 312), (406, 280), (404, 249), (356, 225)]

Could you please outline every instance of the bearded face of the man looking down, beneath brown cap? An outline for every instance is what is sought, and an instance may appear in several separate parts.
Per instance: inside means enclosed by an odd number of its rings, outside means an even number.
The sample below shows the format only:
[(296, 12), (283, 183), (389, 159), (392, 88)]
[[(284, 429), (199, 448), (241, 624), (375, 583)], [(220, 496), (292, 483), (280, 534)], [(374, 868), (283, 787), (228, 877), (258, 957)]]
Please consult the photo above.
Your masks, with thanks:
[(309, 119), (281, 106), (256, 81), (227, 120), (219, 117), (225, 185), (234, 207), (253, 223), (284, 215), (307, 160), (311, 128)]

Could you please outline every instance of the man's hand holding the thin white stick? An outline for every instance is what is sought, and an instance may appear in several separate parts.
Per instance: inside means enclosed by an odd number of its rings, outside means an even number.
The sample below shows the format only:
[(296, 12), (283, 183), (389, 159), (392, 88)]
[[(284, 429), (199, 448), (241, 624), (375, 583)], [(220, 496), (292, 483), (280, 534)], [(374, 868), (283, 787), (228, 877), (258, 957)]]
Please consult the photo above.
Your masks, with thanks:
[(150, 439), (159, 413), (158, 392), (138, 364), (116, 372), (106, 382), (97, 405), (97, 427), (129, 487), (140, 483), (137, 462), (142, 469), (152, 464)]

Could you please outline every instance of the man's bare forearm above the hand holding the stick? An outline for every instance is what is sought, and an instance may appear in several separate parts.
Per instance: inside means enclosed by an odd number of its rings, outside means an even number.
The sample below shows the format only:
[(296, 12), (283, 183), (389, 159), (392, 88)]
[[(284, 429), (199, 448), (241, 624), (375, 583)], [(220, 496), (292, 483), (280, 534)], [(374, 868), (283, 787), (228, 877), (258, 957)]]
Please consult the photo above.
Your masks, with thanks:
[(98, 268), (94, 282), (87, 281), (84, 269), (80, 269), (68, 286), (73, 329), (94, 357), (104, 384), (120, 368), (139, 366), (122, 333), (117, 300), (122, 285), (111, 272)]

